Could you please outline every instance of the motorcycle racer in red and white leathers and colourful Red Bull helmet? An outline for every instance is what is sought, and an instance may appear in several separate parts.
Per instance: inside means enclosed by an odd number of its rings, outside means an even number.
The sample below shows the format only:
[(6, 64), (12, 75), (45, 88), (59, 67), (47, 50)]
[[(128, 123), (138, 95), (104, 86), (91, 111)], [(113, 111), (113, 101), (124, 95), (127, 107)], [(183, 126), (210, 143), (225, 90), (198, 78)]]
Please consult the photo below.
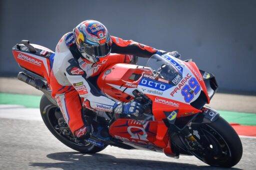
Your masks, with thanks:
[[(137, 102), (115, 102), (101, 94), (97, 86), (89, 81), (90, 78), (96, 77), (111, 64), (135, 64), (136, 56), (149, 58), (153, 54), (164, 53), (132, 40), (110, 36), (106, 27), (95, 20), (83, 21), (72, 32), (64, 34), (56, 45), (49, 84), (51, 95), (73, 135), (78, 139), (87, 139), (93, 133), (106, 140), (100, 133), (101, 127), (92, 128), (90, 121), (82, 118), (86, 118), (83, 107), (127, 115), (138, 115), (143, 111)], [(180, 57), (176, 51), (170, 54)]]

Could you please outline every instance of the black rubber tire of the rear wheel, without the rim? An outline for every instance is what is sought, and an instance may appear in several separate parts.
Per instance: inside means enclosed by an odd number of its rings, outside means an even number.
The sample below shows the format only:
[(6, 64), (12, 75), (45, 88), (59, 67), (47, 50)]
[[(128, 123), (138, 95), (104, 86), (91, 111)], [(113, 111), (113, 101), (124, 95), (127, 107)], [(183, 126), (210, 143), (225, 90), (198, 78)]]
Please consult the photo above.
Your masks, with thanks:
[(75, 151), (85, 154), (94, 154), (106, 148), (107, 145), (103, 148), (99, 148), (90, 143), (86, 143), (85, 145), (77, 144), (70, 138), (63, 136), (56, 128), (54, 128), (58, 124), (57, 118), (55, 117), (55, 112), (60, 112), (59, 108), (52, 104), (47, 97), (43, 95), (40, 101), (40, 113), (42, 120), (52, 135), (61, 143)]

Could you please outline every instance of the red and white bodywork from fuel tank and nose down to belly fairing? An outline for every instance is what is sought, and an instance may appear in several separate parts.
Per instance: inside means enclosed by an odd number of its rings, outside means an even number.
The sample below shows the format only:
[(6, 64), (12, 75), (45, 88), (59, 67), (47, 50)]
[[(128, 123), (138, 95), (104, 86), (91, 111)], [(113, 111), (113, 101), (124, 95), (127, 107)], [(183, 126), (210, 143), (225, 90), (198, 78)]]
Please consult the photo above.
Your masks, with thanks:
[[(182, 67), (182, 79), (176, 85), (166, 88), (166, 90), (157, 89), (156, 87), (158, 83), (167, 83), (168, 81), (153, 76), (153, 71), (149, 67), (114, 64), (99, 75), (97, 80), (99, 88), (106, 96), (115, 101), (128, 102), (132, 100), (134, 90), (144, 93), (152, 100), (152, 121), (147, 121), (146, 124), (142, 125), (130, 119), (117, 119), (109, 127), (109, 134), (112, 137), (139, 147), (149, 148), (153, 146), (154, 149), (161, 148), (166, 155), (172, 154), (167, 127), (162, 121), (166, 119), (164, 112), (174, 111), (174, 113), (177, 113), (173, 114), (170, 119), (190, 116), (201, 112), (190, 105), (199, 97), (201, 91), (204, 92), (207, 102), (209, 102), (209, 97), (196, 65), (191, 61), (183, 62), (172, 56), (169, 57), (175, 63), (178, 63), (179, 67)], [(144, 86), (141, 83), (144, 77), (152, 80), (151, 84), (150, 82), (148, 84), (149, 86), (152, 85), (151, 87)], [(200, 89), (194, 94), (192, 100), (186, 102), (181, 94), (181, 89), (189, 85), (191, 78), (197, 80)]]

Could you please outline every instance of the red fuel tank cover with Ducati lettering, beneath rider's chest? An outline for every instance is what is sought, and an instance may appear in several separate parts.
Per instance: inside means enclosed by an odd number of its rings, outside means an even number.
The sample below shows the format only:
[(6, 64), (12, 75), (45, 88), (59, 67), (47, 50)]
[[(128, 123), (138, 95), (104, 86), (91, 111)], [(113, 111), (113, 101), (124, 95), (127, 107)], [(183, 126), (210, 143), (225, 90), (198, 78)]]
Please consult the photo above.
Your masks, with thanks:
[(132, 92), (137, 88), (142, 73), (152, 72), (148, 67), (125, 63), (114, 64), (99, 75), (97, 85), (109, 98), (128, 102), (134, 97)]

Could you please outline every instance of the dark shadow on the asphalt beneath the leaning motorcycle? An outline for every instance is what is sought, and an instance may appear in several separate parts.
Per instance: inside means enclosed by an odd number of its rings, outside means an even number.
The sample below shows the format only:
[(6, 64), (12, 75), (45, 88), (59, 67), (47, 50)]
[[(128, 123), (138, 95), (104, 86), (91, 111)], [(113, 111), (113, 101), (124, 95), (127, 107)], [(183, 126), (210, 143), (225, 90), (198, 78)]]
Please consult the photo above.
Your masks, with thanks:
[[(149, 161), (149, 160), (138, 160), (138, 159), (122, 159), (115, 158), (110, 155), (105, 154), (81, 154), (78, 152), (63, 152), (54, 153), (47, 155), (47, 158), (61, 161), (59, 163), (29, 163), (29, 166), (39, 167), (39, 168), (59, 168), (62, 170), (70, 169), (161, 169), (161, 170), (220, 170), (220, 168), (214, 168), (209, 166), (196, 166), (192, 164), (183, 163), (171, 163), (162, 161)], [(228, 169), (223, 169), (228, 170)], [(230, 170), (240, 170), (231, 168)]]

